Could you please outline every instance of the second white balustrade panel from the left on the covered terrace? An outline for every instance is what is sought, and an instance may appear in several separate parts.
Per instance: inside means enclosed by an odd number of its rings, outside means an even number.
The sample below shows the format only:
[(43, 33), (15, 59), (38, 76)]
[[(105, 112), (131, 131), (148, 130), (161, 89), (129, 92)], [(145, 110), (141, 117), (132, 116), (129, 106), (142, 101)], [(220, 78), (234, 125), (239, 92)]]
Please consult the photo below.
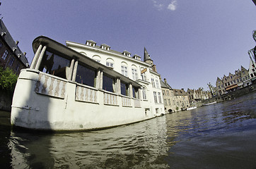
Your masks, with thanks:
[(76, 101), (98, 103), (97, 90), (76, 85)]

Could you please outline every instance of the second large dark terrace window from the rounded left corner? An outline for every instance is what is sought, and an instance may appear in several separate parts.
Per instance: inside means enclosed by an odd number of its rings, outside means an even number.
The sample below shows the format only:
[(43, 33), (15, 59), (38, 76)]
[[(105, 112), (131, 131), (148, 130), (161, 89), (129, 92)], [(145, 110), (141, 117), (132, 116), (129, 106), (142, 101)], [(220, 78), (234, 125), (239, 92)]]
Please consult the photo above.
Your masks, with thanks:
[(86, 65), (78, 63), (76, 70), (76, 82), (95, 87), (96, 71)]

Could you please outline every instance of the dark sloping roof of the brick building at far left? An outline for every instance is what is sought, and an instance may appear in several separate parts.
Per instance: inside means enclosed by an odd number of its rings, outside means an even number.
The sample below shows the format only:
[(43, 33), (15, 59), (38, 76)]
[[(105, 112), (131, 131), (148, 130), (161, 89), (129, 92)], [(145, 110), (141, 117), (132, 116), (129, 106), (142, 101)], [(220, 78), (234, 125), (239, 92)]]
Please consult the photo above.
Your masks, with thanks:
[(13, 37), (11, 37), (10, 32), (8, 32), (6, 26), (4, 25), (3, 20), (1, 19), (0, 19), (0, 32), (1, 32), (1, 38), (4, 39), (4, 41), (6, 42), (6, 44), (8, 44), (10, 49), (12, 50), (16, 49), (15, 51), (13, 51), (13, 53), (16, 54), (18, 58), (20, 58), (21, 62), (24, 65), (27, 65), (28, 59), (25, 57), (25, 55), (23, 54), (21, 49), (18, 47), (16, 42), (13, 40)]

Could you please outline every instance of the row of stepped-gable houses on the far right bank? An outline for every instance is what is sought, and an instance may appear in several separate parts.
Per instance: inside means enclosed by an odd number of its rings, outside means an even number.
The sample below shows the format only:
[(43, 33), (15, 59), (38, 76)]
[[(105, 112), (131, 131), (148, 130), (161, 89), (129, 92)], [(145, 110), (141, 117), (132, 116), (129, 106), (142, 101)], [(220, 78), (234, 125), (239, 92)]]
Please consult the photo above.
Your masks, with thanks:
[(216, 80), (216, 94), (221, 96), (228, 92), (233, 92), (236, 89), (247, 87), (256, 82), (256, 68), (255, 61), (250, 59), (249, 69), (241, 66), (240, 69), (235, 70), (235, 73), (229, 73), (227, 76), (217, 77)]

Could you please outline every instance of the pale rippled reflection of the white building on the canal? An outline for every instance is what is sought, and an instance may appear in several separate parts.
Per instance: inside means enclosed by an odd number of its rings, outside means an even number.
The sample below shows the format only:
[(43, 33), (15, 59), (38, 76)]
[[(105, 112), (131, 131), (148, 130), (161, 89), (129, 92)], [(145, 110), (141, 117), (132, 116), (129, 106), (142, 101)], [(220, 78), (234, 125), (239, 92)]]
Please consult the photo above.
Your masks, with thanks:
[(14, 168), (166, 168), (165, 118), (93, 132), (12, 132)]

